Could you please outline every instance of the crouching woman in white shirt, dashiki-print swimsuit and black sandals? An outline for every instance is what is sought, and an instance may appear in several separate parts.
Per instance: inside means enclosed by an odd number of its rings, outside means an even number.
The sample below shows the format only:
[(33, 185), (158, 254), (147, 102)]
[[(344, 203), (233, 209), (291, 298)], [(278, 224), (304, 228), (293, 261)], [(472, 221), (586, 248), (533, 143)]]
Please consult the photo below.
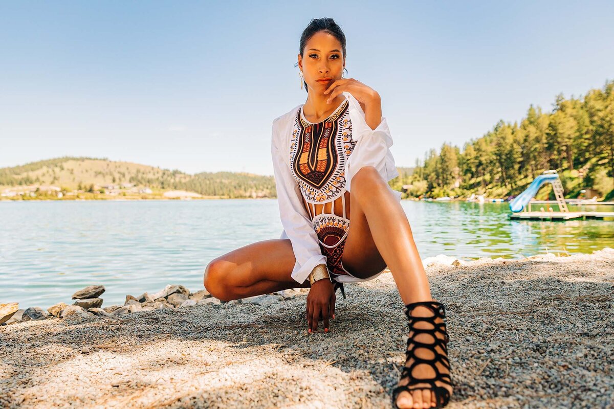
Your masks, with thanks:
[(392, 402), (443, 407), (453, 388), (445, 306), (430, 295), (400, 193), (387, 184), (398, 172), (379, 94), (344, 78), (346, 38), (332, 18), (311, 20), (299, 51), (307, 101), (273, 121), (271, 140), (284, 231), (278, 240), (214, 259), (204, 286), (227, 301), (310, 288), (308, 332), (317, 331), (320, 319), (327, 332), (337, 286), (343, 292), (341, 283), (372, 280), (390, 267), (410, 321)]

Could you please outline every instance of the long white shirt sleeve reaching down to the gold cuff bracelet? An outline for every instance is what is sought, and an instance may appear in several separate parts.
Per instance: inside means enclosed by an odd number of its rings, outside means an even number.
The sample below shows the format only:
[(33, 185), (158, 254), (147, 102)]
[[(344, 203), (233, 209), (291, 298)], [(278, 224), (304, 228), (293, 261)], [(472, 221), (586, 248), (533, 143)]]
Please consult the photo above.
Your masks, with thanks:
[(271, 157), (273, 158), (273, 172), (279, 204), (279, 217), (284, 231), (281, 239), (290, 239), (296, 262), (292, 269), (292, 278), (302, 284), (311, 270), (318, 264), (326, 264), (326, 256), (317, 240), (316, 231), (309, 219), (300, 188), (290, 172), (290, 166), (285, 155), (286, 150), (280, 151), (275, 135), (276, 125), (273, 122), (273, 135), (271, 137)]

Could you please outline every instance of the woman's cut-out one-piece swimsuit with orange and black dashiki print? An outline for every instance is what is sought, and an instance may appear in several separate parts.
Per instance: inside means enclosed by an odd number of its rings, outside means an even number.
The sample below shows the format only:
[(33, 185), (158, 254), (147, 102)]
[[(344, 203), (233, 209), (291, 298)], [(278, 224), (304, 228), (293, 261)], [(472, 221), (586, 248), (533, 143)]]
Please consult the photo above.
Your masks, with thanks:
[[(347, 99), (330, 117), (317, 124), (305, 120), (302, 107), (298, 110), (290, 139), (290, 168), (309, 204), (333, 202), (332, 213), (316, 215), (312, 223), (322, 254), (327, 256), (328, 271), (335, 275), (348, 275), (341, 265), (349, 231), (343, 169), (355, 145)], [(339, 197), (343, 198), (343, 216), (334, 214), (334, 201)]]

